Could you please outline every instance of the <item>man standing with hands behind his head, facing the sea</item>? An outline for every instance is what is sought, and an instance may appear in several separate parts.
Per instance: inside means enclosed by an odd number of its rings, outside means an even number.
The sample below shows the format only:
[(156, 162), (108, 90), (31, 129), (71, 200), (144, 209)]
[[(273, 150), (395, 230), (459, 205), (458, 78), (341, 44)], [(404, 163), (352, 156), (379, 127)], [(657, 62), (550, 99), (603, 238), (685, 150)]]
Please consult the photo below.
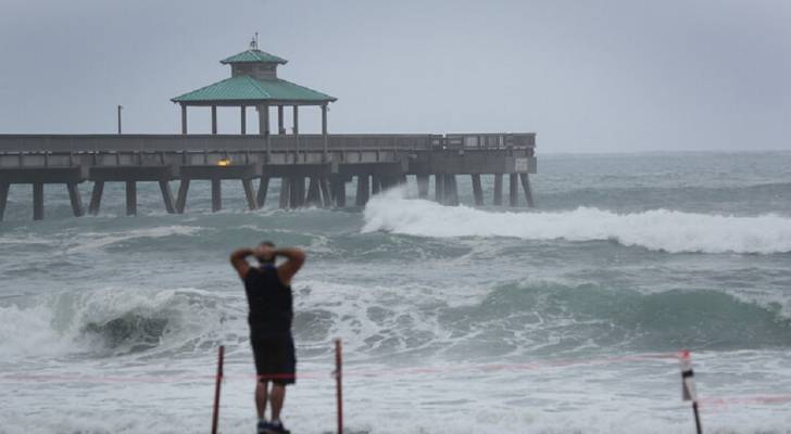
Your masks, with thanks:
[[(251, 267), (248, 257), (259, 260)], [(278, 257), (286, 261), (276, 265)], [(287, 434), (280, 422), (280, 410), (286, 398), (286, 385), (297, 380), (297, 357), (291, 319), (291, 278), (305, 261), (305, 254), (299, 248), (275, 248), (271, 241), (264, 241), (254, 248), (239, 248), (230, 254), (230, 264), (244, 282), (250, 314), (250, 343), (253, 347), (255, 372), (255, 407), (259, 412), (259, 434)], [(272, 390), (269, 390), (272, 383)], [(266, 400), (271, 398), (272, 419), (266, 421)]]

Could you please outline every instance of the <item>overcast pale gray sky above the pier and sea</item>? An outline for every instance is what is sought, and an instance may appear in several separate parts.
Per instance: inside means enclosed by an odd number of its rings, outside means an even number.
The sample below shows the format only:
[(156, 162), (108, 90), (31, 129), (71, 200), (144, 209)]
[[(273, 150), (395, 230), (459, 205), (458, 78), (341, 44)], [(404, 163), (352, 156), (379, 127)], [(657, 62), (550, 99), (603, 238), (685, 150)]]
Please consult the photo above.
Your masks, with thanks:
[[(175, 133), (247, 49), (330, 132), (538, 132), (539, 153), (791, 150), (791, 1), (0, 0), (0, 132)], [(315, 129), (305, 110), (301, 126)], [(209, 110), (190, 112), (208, 132)], [(219, 132), (238, 132), (219, 110)]]

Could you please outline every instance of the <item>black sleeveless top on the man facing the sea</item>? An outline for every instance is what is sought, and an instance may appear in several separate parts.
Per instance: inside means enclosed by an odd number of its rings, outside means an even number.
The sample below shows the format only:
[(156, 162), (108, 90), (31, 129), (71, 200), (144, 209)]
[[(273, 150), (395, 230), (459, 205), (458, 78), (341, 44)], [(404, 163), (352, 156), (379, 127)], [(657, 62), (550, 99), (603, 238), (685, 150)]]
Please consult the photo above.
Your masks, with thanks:
[(244, 292), (250, 306), (248, 322), (256, 333), (288, 333), (291, 331), (293, 305), (291, 286), (280, 282), (272, 266), (250, 268), (244, 276)]

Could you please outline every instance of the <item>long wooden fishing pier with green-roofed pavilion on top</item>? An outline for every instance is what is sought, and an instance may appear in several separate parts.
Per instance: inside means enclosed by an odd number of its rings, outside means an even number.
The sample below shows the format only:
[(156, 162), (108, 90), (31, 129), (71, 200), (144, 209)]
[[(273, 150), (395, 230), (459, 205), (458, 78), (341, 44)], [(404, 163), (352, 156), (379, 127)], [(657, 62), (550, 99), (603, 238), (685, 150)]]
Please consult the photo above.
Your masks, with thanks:
[[(536, 173), (535, 133), (330, 135), (334, 97), (277, 77), (286, 60), (249, 50), (221, 61), (231, 77), (172, 99), (181, 112), (180, 135), (0, 135), (0, 220), (11, 184), (29, 184), (33, 218), (45, 217), (43, 184), (65, 187), (75, 216), (100, 212), (106, 182), (125, 183), (126, 214), (137, 214), (137, 183), (159, 182), (164, 209), (188, 209), (192, 181), (210, 181), (212, 209), (222, 208), (222, 180), (238, 180), (247, 207), (266, 204), (278, 179), (278, 206), (364, 206), (384, 189), (414, 177), (419, 197), (459, 204), (456, 178), (469, 176), (476, 205), (487, 203), (481, 177), (493, 177), (492, 205), (532, 206), (529, 175)], [(301, 108), (319, 108), (321, 133), (300, 132)], [(188, 110), (210, 110), (211, 135), (188, 131)], [(239, 111), (239, 133), (217, 133), (217, 110)], [(248, 110), (258, 131), (248, 133)], [(291, 112), (290, 131), (284, 112)], [(274, 114), (273, 114), (274, 112)], [(272, 118), (277, 129), (272, 130)], [(429, 183), (434, 178), (434, 194)], [(92, 182), (87, 209), (77, 186)], [(355, 182), (351, 189), (348, 184)], [(172, 183), (177, 183), (176, 193)], [(348, 200), (347, 190), (354, 193)]]

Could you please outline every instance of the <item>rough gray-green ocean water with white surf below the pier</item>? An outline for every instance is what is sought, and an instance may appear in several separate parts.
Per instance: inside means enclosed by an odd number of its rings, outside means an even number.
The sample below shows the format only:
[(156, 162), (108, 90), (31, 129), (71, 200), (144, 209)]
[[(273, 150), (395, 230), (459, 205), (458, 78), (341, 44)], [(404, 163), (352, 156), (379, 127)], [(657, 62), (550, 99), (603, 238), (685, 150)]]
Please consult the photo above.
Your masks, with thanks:
[(0, 433), (209, 431), (218, 345), (221, 432), (253, 432), (228, 254), (266, 239), (309, 255), (294, 433), (335, 430), (336, 337), (350, 432), (694, 432), (683, 348), (705, 432), (791, 432), (791, 153), (549, 155), (539, 169), (535, 209), (473, 207), (460, 177), (459, 207), (414, 199), (411, 179), (344, 210), (275, 209), (275, 183), (246, 212), (224, 182), (227, 210), (211, 214), (197, 182), (185, 215), (141, 184), (125, 217), (110, 184), (100, 216), (73, 218), (65, 188), (47, 186), (34, 222), (14, 186)]

